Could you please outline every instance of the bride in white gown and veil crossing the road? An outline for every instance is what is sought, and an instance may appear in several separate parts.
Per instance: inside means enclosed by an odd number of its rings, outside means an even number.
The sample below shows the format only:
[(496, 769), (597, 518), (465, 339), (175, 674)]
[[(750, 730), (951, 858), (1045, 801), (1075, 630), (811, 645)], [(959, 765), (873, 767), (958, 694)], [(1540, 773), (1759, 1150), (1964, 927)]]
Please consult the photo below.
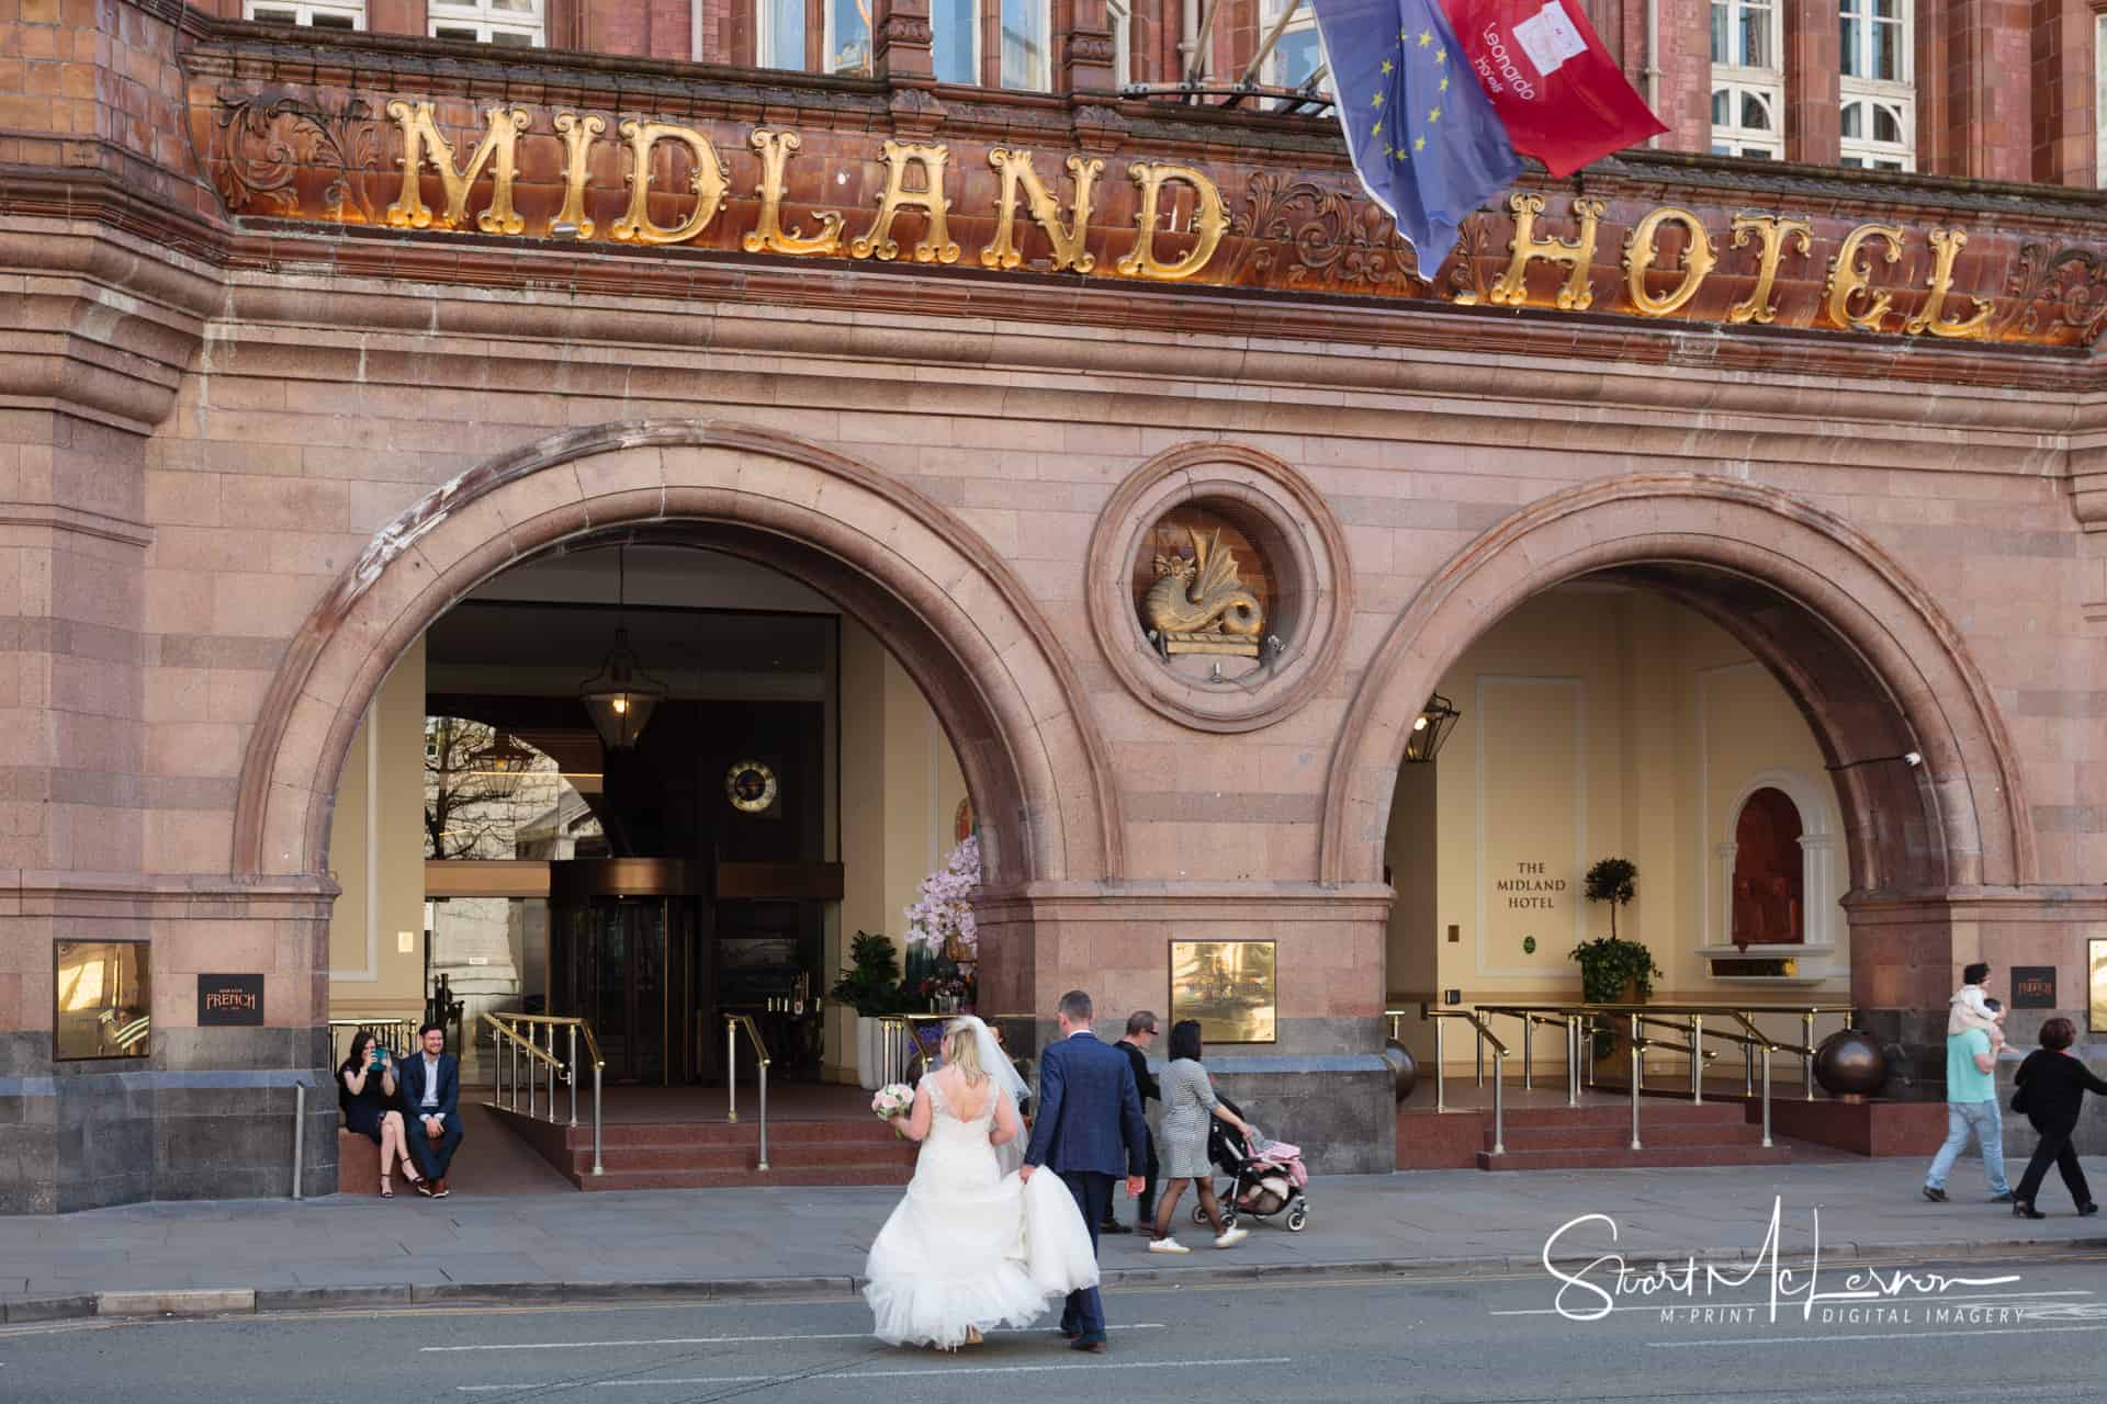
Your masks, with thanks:
[(879, 1229), (864, 1299), (889, 1345), (976, 1345), (1030, 1326), (1058, 1297), (1098, 1282), (1098, 1255), (1066, 1185), (1018, 1177), (1024, 1078), (980, 1019), (944, 1027), (944, 1065), (893, 1126), (921, 1141), (914, 1179)]

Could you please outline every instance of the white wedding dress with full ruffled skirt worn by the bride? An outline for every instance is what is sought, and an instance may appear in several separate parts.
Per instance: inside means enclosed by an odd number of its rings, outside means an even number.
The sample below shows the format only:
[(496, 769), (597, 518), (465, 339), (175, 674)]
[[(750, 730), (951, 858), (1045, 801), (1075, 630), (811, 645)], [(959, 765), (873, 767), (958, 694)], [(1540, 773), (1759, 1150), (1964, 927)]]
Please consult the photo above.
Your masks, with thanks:
[(906, 1196), (864, 1265), (874, 1335), (889, 1345), (952, 1349), (973, 1328), (1030, 1326), (1047, 1305), (1098, 1284), (1098, 1255), (1068, 1187), (1051, 1170), (1003, 1172), (988, 1132), (995, 1101), (952, 1116), (936, 1078), (929, 1135)]

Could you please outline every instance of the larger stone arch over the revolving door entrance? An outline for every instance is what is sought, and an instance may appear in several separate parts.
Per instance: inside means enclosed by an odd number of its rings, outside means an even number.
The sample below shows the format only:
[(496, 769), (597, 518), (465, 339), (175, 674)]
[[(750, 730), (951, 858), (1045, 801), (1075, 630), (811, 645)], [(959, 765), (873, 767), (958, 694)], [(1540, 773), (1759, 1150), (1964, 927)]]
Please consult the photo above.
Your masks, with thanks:
[(617, 539), (775, 566), (885, 638), (959, 754), (988, 888), (1123, 874), (1110, 751), (1056, 629), (1009, 566), (944, 507), (872, 467), (700, 419), (546, 438), (383, 526), (272, 680), (242, 760), (232, 871), (324, 871), (343, 756), (405, 648), (508, 566)]

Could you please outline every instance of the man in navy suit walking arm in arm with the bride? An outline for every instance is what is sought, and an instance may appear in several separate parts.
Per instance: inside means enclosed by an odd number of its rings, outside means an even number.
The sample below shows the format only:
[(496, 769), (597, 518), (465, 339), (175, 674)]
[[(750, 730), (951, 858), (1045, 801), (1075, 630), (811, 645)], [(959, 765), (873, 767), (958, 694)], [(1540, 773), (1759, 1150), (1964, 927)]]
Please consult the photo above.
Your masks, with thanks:
[[(1112, 1181), (1127, 1175), (1127, 1196), (1142, 1194), (1148, 1166), (1148, 1122), (1134, 1088), (1127, 1055), (1089, 1031), (1089, 996), (1070, 989), (1060, 998), (1060, 1042), (1039, 1055), (1039, 1118), (1024, 1149), (1020, 1177), (1054, 1166), (1089, 1225), (1091, 1252), (1098, 1225), (1112, 1210)], [(1060, 1332), (1079, 1351), (1104, 1353), (1104, 1303), (1098, 1288), (1068, 1292)]]

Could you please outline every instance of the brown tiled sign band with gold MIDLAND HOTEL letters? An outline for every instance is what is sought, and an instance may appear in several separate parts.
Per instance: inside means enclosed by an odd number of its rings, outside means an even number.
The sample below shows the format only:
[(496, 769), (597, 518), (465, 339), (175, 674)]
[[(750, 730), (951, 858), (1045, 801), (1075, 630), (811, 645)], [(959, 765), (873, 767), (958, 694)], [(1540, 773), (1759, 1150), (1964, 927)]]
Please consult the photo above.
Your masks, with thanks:
[(1106, 160), (293, 84), (194, 84), (192, 126), (244, 219), (1947, 341), (2090, 345), (2107, 322), (2096, 244), (1835, 198), (1793, 210), (1662, 204), (1629, 181), (1517, 192), (1422, 278), (1351, 173), (1214, 158), (1218, 143), (1207, 160), (1131, 143)]

